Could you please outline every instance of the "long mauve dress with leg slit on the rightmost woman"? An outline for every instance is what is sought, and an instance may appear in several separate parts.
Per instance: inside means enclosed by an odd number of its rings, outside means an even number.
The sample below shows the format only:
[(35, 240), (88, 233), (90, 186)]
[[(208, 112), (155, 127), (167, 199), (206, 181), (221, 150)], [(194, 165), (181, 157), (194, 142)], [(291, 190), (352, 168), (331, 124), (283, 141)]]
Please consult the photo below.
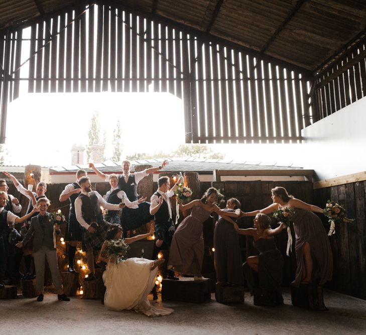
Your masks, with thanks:
[(294, 208), (293, 217), (295, 231), (295, 251), (296, 251), (296, 274), (293, 281), (294, 286), (299, 286), (301, 275), (305, 271), (304, 245), (309, 243), (313, 258), (312, 279), (320, 278), (320, 285), (332, 279), (333, 255), (330, 248), (329, 239), (324, 230), (323, 224), (318, 216), (312, 211)]

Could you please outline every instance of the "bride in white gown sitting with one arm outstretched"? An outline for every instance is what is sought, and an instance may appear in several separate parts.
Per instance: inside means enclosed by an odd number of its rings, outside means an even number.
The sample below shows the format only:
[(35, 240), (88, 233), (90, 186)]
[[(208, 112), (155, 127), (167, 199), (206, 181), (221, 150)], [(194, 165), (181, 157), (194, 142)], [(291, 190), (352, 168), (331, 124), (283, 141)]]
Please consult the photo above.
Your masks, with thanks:
[[(151, 225), (150, 233), (125, 239), (126, 244), (131, 244), (147, 238), (154, 233)], [(107, 231), (106, 240), (103, 243), (98, 260), (107, 263), (103, 273), (103, 281), (106, 287), (104, 305), (108, 309), (123, 310), (134, 309), (136, 312), (148, 316), (163, 316), (173, 312), (171, 308), (155, 307), (151, 305), (148, 294), (155, 285), (158, 266), (165, 262), (161, 260), (147, 260), (145, 258), (129, 258), (117, 263), (114, 257), (109, 257), (104, 251), (108, 240), (119, 240), (122, 236), (122, 228), (113, 224)]]

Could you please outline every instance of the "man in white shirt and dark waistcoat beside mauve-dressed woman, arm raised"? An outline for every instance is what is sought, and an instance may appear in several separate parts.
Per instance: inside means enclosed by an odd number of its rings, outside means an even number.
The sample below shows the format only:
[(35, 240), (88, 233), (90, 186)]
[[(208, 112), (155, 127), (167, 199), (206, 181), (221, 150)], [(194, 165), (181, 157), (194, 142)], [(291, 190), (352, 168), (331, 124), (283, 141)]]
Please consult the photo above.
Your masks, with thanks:
[[(155, 245), (154, 254), (157, 258), (160, 250), (168, 250), (172, 243), (174, 234), (173, 210), (169, 198), (174, 195), (175, 189), (181, 182), (181, 178), (170, 188), (169, 177), (158, 179), (158, 190), (151, 197), (150, 213), (154, 215), (155, 221)], [(168, 258), (168, 255), (165, 255)], [(168, 270), (168, 279), (178, 280), (172, 270)]]

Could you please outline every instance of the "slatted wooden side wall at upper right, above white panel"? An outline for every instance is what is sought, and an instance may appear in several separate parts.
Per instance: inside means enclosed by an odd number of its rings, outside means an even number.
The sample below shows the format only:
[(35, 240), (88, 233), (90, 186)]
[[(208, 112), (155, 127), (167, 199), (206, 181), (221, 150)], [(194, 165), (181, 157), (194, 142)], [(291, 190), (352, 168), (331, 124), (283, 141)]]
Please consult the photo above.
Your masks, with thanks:
[(321, 103), (312, 103), (321, 118), (366, 96), (365, 61), (366, 50), (361, 41), (319, 73), (316, 90), (323, 98)]

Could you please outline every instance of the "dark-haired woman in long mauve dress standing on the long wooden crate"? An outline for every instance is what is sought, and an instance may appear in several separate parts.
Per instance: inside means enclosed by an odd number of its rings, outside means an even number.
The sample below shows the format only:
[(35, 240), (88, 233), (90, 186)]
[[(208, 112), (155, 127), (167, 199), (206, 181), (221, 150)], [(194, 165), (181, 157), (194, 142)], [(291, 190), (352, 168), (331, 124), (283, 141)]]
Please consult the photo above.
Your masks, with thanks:
[(181, 210), (192, 208), (192, 212), (181, 222), (173, 235), (168, 269), (193, 275), (194, 280), (206, 279), (201, 273), (204, 255), (203, 222), (212, 212), (217, 212), (237, 229), (235, 222), (215, 205), (217, 194), (216, 188), (210, 187), (200, 200), (193, 200), (185, 205), (179, 204)]

